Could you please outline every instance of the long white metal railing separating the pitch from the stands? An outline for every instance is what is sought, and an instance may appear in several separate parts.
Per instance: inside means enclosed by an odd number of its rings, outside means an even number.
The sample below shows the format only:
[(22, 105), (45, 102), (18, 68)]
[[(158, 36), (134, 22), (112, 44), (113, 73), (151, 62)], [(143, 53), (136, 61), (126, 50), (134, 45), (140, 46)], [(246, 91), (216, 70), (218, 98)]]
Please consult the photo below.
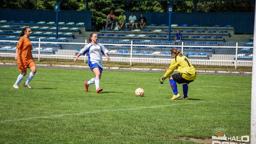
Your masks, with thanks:
[[(86, 40), (79, 42), (51, 42), (40, 38), (38, 41), (31, 41), (34, 50), (33, 56), (40, 62), (41, 59), (65, 59), (73, 60), (85, 44)], [(78, 41), (78, 40), (77, 40)], [(0, 40), (0, 56), (14, 57), (17, 40)], [(110, 51), (112, 62), (124, 63), (171, 63), (170, 49), (177, 47), (188, 56), (193, 64), (201, 65), (228, 65), (252, 66), (252, 45), (244, 43), (214, 43), (214, 44), (189, 44), (182, 42), (182, 45), (175, 45), (174, 42), (112, 42), (101, 41)], [(202, 43), (202, 42), (201, 42)], [(37, 47), (38, 46), (38, 47)], [(11, 49), (9, 48), (11, 47)], [(36, 47), (36, 48), (35, 48)], [(201, 55), (200, 55), (201, 54)], [(81, 56), (79, 60), (86, 63), (87, 56)], [(102, 57), (103, 61), (106, 58)]]

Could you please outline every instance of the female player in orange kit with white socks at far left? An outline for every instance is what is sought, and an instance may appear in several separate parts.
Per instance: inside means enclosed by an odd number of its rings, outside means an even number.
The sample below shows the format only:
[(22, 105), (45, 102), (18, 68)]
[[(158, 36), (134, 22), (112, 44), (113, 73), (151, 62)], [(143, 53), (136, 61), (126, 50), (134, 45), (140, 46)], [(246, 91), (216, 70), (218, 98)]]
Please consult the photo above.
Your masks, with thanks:
[(20, 88), (18, 84), (27, 74), (27, 68), (29, 68), (31, 72), (27, 76), (27, 80), (25, 81), (23, 86), (29, 89), (33, 89), (33, 87), (30, 86), (29, 81), (31, 81), (34, 77), (35, 73), (37, 72), (37, 68), (32, 57), (32, 44), (29, 39), (30, 34), (30, 27), (24, 27), (19, 36), (18, 44), (16, 47), (15, 59), (18, 63), (18, 70), (21, 71), (21, 73), (18, 75), (18, 79), (13, 85), (15, 89)]

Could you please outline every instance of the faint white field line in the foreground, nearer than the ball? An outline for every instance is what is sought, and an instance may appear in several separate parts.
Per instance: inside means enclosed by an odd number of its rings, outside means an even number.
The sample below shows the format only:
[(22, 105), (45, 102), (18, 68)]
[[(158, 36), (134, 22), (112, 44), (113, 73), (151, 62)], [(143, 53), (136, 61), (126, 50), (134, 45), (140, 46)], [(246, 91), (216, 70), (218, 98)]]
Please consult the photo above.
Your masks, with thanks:
[(197, 103), (196, 102), (195, 103), (179, 103), (179, 104), (172, 104), (172, 105), (161, 105), (161, 106), (150, 106), (150, 107), (94, 110), (94, 111), (87, 111), (87, 112), (73, 113), (73, 114), (60, 114), (60, 115), (42, 116), (42, 117), (27, 117), (27, 118), (19, 118), (19, 119), (7, 119), (7, 120), (1, 120), (0, 123), (12, 122), (12, 121), (33, 120), (33, 119), (40, 119), (40, 118), (54, 118), (54, 117), (66, 117), (66, 116), (82, 116), (82, 115), (86, 115), (86, 114), (113, 112), (113, 111), (128, 111), (128, 110), (138, 110), (138, 109), (147, 109), (147, 108), (163, 108), (163, 107), (170, 107), (170, 106), (174, 106), (174, 105), (189, 105), (189, 104), (197, 104)]

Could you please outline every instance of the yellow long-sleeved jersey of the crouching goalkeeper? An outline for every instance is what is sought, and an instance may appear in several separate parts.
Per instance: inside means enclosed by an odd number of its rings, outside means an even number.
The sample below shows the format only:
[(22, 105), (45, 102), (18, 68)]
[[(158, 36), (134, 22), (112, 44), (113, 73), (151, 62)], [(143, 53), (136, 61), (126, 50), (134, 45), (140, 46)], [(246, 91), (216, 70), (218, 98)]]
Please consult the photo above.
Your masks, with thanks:
[(174, 70), (177, 70), (177, 72), (182, 73), (182, 77), (188, 81), (192, 81), (196, 79), (196, 70), (189, 61), (189, 59), (182, 55), (177, 55), (170, 65), (170, 67), (165, 72), (165, 78), (168, 78)]

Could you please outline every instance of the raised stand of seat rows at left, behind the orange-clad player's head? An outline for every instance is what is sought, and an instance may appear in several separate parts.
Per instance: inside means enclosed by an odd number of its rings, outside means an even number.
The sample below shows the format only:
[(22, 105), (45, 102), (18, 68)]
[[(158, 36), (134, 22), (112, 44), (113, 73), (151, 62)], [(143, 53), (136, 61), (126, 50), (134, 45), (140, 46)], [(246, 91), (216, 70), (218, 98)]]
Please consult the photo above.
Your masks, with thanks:
[[(41, 37), (55, 37), (56, 36), (56, 25), (55, 22), (45, 22), (45, 21), (39, 21), (39, 22), (26, 22), (26, 21), (9, 21), (6, 20), (0, 20), (0, 35), (4, 36), (19, 36), (21, 33), (21, 30), (24, 27), (31, 27), (31, 30), (33, 33), (31, 36), (39, 38)], [(59, 22), (59, 37), (60, 38), (81, 38), (84, 37), (84, 35), (81, 35), (85, 32), (85, 26), (84, 23), (77, 23), (74, 22)]]

